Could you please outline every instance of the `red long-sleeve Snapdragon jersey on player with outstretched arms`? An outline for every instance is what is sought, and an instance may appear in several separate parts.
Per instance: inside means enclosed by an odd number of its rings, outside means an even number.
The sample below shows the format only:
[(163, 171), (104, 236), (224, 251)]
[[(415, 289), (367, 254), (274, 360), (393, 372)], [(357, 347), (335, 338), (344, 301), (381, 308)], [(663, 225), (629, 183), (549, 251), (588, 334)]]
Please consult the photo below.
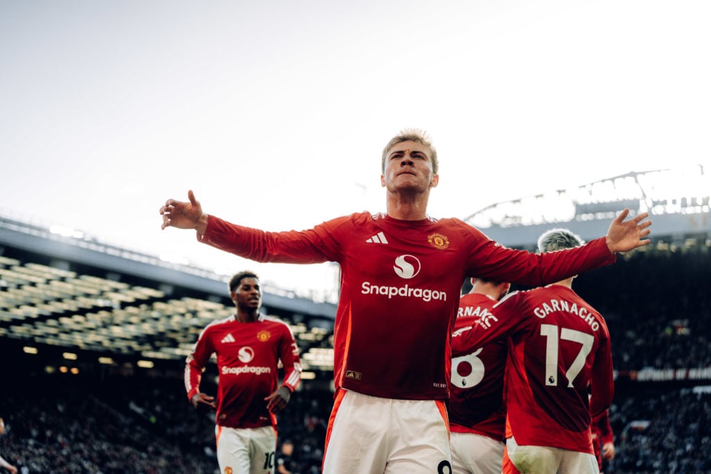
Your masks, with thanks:
[(210, 216), (198, 239), (257, 262), (338, 262), (336, 388), (393, 399), (449, 398), (449, 343), (465, 276), (540, 285), (614, 262), (604, 239), (537, 255), (501, 247), (458, 219), (367, 212), (300, 232)]

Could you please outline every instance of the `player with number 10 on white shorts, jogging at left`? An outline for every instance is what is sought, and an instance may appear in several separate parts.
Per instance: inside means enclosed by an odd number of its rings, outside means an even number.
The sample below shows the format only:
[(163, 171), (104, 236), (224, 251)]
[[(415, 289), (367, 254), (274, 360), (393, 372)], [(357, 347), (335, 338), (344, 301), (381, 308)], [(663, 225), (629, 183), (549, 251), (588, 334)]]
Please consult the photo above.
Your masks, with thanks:
[[(193, 406), (210, 407), (221, 473), (274, 474), (277, 419), (301, 380), (299, 350), (289, 326), (260, 314), (259, 278), (242, 271), (230, 279), (237, 312), (210, 323), (186, 360), (185, 387)], [(217, 397), (200, 391), (203, 369), (215, 354)], [(279, 360), (284, 383), (277, 387)]]

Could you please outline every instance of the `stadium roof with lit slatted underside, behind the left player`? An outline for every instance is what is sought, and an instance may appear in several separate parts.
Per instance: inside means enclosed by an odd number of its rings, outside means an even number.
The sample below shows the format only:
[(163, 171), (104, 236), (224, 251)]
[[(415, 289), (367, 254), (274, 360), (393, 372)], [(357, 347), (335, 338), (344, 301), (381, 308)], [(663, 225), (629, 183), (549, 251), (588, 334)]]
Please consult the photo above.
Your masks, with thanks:
[[(205, 325), (234, 312), (227, 279), (0, 216), (0, 356), (40, 353), (41, 364), (66, 370), (181, 372)], [(268, 287), (262, 303), (292, 328), (305, 370), (333, 369), (335, 305)]]

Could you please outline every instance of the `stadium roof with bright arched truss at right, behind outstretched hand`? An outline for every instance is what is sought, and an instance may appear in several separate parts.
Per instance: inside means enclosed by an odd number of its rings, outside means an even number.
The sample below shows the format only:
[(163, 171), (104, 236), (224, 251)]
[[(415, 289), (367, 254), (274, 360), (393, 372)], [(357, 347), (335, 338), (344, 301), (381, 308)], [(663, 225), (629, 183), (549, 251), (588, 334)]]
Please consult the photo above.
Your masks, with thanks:
[(507, 247), (531, 249), (553, 227), (584, 240), (602, 237), (617, 213), (649, 212), (652, 239), (708, 244), (711, 175), (702, 165), (631, 172), (587, 185), (496, 203), (466, 217)]

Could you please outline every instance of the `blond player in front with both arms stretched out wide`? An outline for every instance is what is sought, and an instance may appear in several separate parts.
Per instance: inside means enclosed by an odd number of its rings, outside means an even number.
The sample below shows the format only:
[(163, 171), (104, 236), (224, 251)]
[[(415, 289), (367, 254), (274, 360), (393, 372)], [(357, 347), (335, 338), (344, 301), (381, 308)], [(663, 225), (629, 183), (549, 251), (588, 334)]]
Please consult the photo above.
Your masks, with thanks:
[(451, 469), (449, 343), (466, 276), (546, 284), (649, 243), (648, 215), (626, 220), (624, 210), (606, 237), (579, 249), (537, 255), (501, 247), (461, 220), (427, 215), (438, 166), (429, 139), (403, 131), (383, 150), (387, 212), (358, 212), (300, 232), (265, 232), (208, 215), (192, 191), (188, 201), (161, 206), (162, 228), (196, 230), (200, 242), (240, 257), (340, 265), (327, 474)]

